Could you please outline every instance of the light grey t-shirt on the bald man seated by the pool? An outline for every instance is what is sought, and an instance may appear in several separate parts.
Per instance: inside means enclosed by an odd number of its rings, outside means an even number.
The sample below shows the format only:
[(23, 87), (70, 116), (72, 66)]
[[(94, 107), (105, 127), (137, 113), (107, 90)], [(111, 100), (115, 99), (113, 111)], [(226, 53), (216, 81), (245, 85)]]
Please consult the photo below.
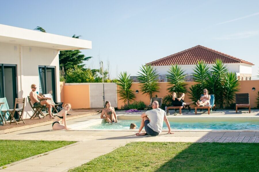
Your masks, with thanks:
[(161, 133), (163, 127), (164, 116), (166, 115), (165, 111), (157, 108), (146, 111), (146, 115), (150, 119), (150, 123), (148, 123), (148, 127), (150, 127), (153, 131)]

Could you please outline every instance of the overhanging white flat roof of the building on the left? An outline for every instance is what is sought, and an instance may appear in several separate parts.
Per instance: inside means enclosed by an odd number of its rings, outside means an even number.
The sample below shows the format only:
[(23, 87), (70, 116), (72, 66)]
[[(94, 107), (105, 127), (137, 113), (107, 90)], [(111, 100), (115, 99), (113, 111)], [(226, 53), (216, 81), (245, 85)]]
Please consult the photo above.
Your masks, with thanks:
[(0, 42), (56, 50), (92, 49), (92, 41), (0, 24)]

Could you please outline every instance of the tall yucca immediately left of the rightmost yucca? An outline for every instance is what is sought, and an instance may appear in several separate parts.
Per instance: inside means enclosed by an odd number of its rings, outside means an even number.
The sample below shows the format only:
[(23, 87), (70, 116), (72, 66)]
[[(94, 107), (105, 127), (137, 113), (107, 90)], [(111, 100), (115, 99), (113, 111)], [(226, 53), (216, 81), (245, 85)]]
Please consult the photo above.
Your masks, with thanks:
[(221, 59), (216, 59), (215, 63), (211, 67), (210, 76), (208, 77), (206, 88), (210, 90), (210, 94), (215, 95), (216, 105), (218, 107), (223, 107), (223, 84), (224, 77), (228, 68)]

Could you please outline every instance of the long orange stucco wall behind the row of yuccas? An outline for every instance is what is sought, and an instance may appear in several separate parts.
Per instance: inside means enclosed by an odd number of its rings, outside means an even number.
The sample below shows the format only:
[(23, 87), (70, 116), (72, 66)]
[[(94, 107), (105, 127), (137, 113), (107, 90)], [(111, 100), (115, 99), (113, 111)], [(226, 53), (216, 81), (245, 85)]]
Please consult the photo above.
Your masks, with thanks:
[[(239, 81), (240, 82), (240, 90), (239, 93), (249, 93), (250, 96), (250, 105), (251, 107), (256, 107), (256, 97), (257, 97), (257, 91), (259, 90), (259, 80), (251, 80), (251, 81)], [(169, 86), (167, 86), (167, 82), (161, 82), (160, 83), (160, 89), (159, 92), (155, 92), (157, 94), (157, 97), (164, 97), (169, 92), (166, 90)], [(195, 84), (195, 82), (187, 82), (187, 87), (190, 87), (191, 85)], [(136, 95), (135, 101), (143, 101), (146, 105), (150, 104), (150, 100), (148, 98), (148, 95), (142, 94), (140, 92), (140, 84), (139, 83), (133, 83), (131, 86), (131, 89), (134, 90), (134, 94)], [(255, 91), (252, 91), (252, 88), (256, 88)], [(118, 87), (117, 87), (118, 89)], [(139, 91), (138, 94), (136, 94), (136, 90)], [(189, 91), (189, 88), (187, 89)], [(188, 93), (186, 93), (186, 96), (184, 98), (185, 102), (190, 102), (191, 100), (188, 98)], [(124, 105), (122, 100), (119, 100), (120, 97), (118, 96), (118, 109), (121, 109), (121, 106)]]

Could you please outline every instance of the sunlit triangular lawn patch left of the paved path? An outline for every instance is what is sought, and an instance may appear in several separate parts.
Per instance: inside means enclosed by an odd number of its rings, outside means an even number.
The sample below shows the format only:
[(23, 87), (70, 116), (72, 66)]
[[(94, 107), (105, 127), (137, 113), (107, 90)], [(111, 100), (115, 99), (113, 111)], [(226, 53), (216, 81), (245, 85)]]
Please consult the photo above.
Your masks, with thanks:
[(75, 142), (0, 140), (0, 167)]

